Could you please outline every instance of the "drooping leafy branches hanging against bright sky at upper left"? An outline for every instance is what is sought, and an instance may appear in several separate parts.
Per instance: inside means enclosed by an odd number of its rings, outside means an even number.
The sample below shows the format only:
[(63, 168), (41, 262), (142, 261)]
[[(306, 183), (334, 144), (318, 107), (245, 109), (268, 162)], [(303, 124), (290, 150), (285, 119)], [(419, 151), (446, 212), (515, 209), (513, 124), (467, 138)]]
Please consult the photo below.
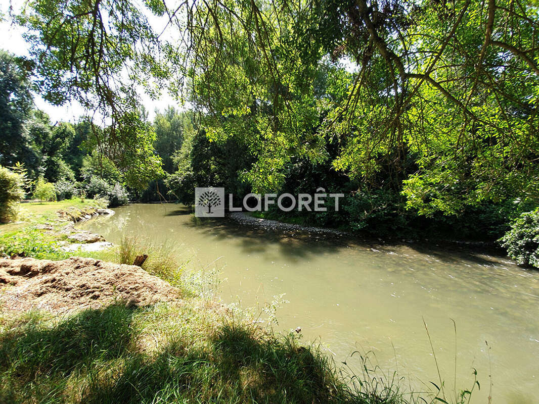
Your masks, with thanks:
[[(158, 2), (146, 4), (157, 15), (164, 12)], [(155, 134), (138, 113), (136, 89), (160, 80), (166, 67), (156, 59), (157, 35), (139, 5), (38, 0), (16, 20), (28, 30), (35, 83), (43, 97), (55, 105), (78, 100), (109, 117), (107, 130), (92, 134), (100, 154), (125, 172), (130, 185), (143, 188), (161, 177)]]

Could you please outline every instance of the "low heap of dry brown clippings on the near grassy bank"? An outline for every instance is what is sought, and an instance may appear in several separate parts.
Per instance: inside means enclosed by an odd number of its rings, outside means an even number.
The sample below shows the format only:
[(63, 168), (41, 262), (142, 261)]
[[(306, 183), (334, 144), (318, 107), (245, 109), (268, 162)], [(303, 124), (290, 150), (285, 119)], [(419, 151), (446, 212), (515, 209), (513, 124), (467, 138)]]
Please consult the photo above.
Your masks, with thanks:
[(143, 306), (178, 298), (178, 289), (140, 267), (92, 258), (0, 259), (0, 307), (65, 312), (113, 300)]

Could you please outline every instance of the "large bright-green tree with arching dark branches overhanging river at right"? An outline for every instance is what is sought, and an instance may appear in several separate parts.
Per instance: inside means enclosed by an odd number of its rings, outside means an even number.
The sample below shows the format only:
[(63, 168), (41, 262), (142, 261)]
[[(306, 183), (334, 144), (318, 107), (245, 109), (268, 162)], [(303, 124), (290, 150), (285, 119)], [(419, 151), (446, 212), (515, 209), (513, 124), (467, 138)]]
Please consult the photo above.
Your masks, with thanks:
[[(367, 189), (391, 173), (385, 183), (420, 214), (537, 200), (538, 15), (509, 0), (198, 4), (194, 102), (211, 140), (250, 135), (258, 162), (245, 178), (257, 190), (278, 189), (293, 156), (323, 161), (329, 141), (335, 169)], [(357, 73), (342, 99), (319, 102), (328, 58)]]

